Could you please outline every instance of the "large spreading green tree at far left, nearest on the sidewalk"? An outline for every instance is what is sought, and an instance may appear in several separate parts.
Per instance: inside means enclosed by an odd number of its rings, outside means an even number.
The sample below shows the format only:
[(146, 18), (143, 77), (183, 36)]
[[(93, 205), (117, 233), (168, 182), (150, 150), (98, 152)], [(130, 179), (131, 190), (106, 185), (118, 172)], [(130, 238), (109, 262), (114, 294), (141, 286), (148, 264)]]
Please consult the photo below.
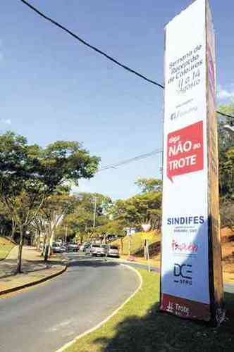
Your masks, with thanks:
[(81, 177), (92, 177), (98, 163), (78, 142), (60, 141), (42, 149), (13, 132), (0, 136), (0, 199), (20, 230), (17, 272), (25, 232), (45, 199), (64, 182), (78, 184)]

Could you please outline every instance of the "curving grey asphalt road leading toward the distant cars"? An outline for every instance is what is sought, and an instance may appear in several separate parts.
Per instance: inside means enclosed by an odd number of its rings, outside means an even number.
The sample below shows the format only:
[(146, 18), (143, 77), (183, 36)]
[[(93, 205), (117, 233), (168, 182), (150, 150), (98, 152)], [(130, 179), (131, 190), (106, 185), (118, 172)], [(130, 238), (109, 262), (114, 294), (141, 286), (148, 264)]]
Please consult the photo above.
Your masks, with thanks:
[(0, 351), (52, 352), (94, 327), (137, 289), (125, 265), (69, 254), (66, 273), (0, 299)]

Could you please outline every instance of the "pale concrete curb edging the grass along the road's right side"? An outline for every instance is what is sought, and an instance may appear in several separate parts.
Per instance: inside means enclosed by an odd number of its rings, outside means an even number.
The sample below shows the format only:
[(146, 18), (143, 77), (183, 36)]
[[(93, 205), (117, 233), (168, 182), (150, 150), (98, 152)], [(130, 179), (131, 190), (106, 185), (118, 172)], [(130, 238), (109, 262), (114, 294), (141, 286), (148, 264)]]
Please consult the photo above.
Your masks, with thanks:
[(135, 296), (135, 294), (137, 294), (138, 291), (140, 291), (140, 289), (142, 288), (142, 283), (143, 283), (142, 276), (140, 275), (140, 273), (137, 270), (135, 270), (135, 268), (130, 267), (128, 264), (122, 264), (121, 263), (121, 265), (126, 265), (130, 270), (133, 270), (137, 274), (137, 277), (140, 280), (140, 285), (137, 287), (137, 289), (133, 292), (133, 294), (131, 294), (121, 304), (121, 306), (119, 306), (116, 310), (114, 310), (113, 313), (111, 313), (111, 315), (109, 315), (109, 317), (107, 317), (106, 319), (102, 320), (102, 322), (99, 322), (99, 324), (97, 324), (96, 326), (92, 327), (91, 329), (88, 329), (86, 332), (83, 332), (82, 334), (78, 335), (77, 337), (75, 337), (75, 339), (71, 340), (70, 342), (68, 342), (67, 344), (65, 344), (64, 346), (62, 346), (58, 350), (56, 350), (55, 352), (66, 351), (66, 349), (68, 347), (72, 346), (73, 344), (75, 344), (76, 341), (78, 341), (82, 337), (86, 336), (87, 334), (90, 334), (90, 332), (94, 332), (95, 330), (99, 329), (99, 327), (104, 325), (106, 322), (108, 322), (108, 320), (110, 320), (114, 315), (116, 315), (118, 313), (118, 311), (121, 310), (123, 308), (123, 306), (125, 306), (125, 304), (128, 303), (128, 301), (130, 301), (130, 299), (132, 299)]

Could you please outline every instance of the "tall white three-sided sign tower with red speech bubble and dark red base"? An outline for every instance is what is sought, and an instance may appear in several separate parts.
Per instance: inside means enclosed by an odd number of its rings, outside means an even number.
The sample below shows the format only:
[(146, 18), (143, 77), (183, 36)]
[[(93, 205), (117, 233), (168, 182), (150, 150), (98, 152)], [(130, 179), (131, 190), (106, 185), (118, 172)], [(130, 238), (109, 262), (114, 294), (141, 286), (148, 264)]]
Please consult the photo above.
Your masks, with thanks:
[(206, 0), (166, 25), (160, 308), (207, 321), (214, 315), (211, 243), (219, 236), (214, 52)]

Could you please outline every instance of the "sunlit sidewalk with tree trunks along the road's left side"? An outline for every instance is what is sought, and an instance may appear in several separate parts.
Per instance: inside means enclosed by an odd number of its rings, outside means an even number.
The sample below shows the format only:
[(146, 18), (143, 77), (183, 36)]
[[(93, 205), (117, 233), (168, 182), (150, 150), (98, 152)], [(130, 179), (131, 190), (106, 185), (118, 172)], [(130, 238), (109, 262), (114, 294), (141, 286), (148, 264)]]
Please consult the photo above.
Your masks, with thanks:
[(35, 247), (23, 247), (23, 274), (15, 275), (18, 246), (12, 249), (5, 260), (0, 262), (0, 295), (44, 282), (66, 270), (60, 258), (51, 258), (44, 263), (43, 257)]

